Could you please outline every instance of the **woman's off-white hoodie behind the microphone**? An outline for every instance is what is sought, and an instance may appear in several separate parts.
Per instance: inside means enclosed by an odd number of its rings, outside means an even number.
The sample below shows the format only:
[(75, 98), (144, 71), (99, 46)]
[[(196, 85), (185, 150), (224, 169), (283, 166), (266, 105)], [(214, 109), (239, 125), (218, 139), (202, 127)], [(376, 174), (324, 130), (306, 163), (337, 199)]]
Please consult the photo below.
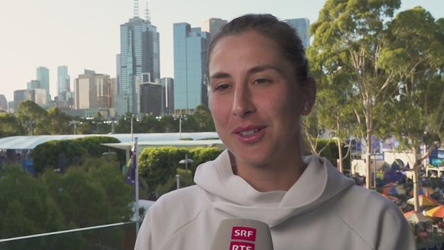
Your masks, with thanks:
[(274, 249), (416, 249), (393, 201), (354, 185), (325, 158), (307, 156), (288, 191), (258, 192), (232, 172), (228, 151), (196, 170), (197, 185), (164, 194), (137, 235), (137, 250), (210, 249), (228, 217), (266, 222)]

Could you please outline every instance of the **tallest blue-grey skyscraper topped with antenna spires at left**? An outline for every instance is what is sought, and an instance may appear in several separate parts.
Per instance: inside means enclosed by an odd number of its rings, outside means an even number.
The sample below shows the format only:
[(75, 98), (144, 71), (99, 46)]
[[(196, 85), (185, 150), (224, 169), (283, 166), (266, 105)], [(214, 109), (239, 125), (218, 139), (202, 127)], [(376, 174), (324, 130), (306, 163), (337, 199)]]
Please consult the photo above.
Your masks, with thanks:
[[(119, 94), (116, 97), (116, 113), (137, 113), (136, 77), (149, 73), (152, 79), (160, 78), (159, 33), (146, 19), (138, 17), (138, 1), (135, 16), (120, 26)], [(137, 7), (137, 11), (136, 11)]]

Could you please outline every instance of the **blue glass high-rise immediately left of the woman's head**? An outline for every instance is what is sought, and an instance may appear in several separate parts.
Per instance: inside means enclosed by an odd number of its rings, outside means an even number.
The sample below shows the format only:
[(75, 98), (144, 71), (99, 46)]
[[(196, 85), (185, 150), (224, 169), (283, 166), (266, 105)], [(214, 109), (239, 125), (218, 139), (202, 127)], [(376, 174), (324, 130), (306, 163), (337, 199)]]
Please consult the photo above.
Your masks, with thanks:
[(210, 33), (187, 23), (173, 28), (175, 113), (193, 113), (197, 106), (208, 103), (205, 67)]

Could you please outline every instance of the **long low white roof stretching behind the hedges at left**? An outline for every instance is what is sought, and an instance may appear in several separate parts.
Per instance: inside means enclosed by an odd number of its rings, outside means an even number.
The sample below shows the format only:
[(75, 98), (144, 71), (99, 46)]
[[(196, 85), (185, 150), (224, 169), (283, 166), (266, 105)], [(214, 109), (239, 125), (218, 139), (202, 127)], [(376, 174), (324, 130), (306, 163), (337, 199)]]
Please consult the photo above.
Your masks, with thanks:
[[(39, 144), (43, 144), (50, 140), (71, 140), (76, 138), (85, 138), (88, 136), (108, 136), (116, 138), (122, 144), (131, 142), (131, 134), (100, 134), (100, 135), (19, 135), (10, 136), (6, 138), (0, 138), (0, 149), (34, 149)], [(176, 144), (196, 144), (196, 140), (203, 140), (201, 142), (205, 145), (209, 144), (221, 144), (220, 140), (215, 143), (214, 139), (219, 138), (216, 132), (199, 132), (199, 133), (135, 133), (133, 138), (138, 138), (139, 145), (146, 144), (163, 144), (163, 146), (171, 145), (172, 142)], [(190, 138), (192, 140), (179, 140), (180, 138)], [(213, 140), (208, 140), (213, 139)], [(108, 146), (108, 145), (107, 145)], [(155, 146), (152, 146), (155, 147)], [(192, 147), (192, 146), (189, 146)], [(196, 147), (196, 146), (194, 146)], [(127, 149), (126, 147), (120, 147), (121, 149)]]

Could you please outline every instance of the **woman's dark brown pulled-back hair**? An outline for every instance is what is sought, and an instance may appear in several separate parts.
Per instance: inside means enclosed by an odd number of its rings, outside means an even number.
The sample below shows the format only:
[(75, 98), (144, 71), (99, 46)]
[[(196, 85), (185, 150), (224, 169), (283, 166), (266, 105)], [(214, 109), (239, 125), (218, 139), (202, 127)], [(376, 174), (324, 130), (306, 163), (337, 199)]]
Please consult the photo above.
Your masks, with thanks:
[(283, 55), (293, 64), (296, 78), (304, 82), (308, 78), (309, 64), (305, 56), (297, 31), (287, 23), (280, 22), (278, 18), (270, 14), (248, 14), (232, 19), (221, 28), (221, 32), (214, 36), (208, 49), (207, 74), (210, 56), (214, 46), (221, 38), (229, 35), (240, 35), (247, 31), (255, 31), (273, 40), (281, 49)]

